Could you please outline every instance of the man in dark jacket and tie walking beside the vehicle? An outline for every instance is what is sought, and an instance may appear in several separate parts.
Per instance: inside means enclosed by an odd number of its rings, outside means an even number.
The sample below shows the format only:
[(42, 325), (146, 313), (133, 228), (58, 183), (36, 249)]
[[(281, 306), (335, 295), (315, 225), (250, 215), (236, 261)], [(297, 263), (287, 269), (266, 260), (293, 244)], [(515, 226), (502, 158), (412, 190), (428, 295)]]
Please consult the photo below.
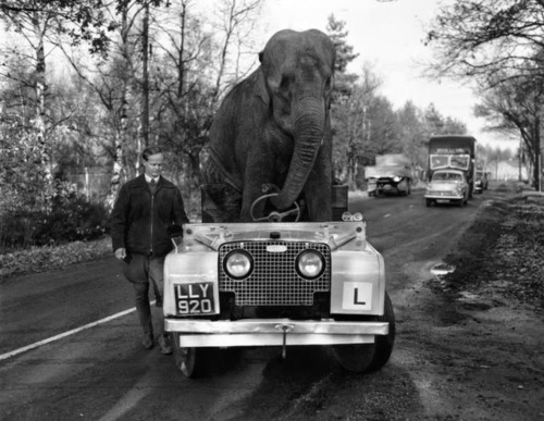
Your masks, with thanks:
[[(141, 152), (145, 172), (125, 183), (119, 193), (111, 215), (111, 238), (115, 258), (125, 261), (124, 275), (133, 284), (136, 310), (144, 331), (141, 344), (154, 345), (153, 332), (162, 354), (172, 354), (164, 334), (162, 313), (164, 258), (173, 248), (169, 226), (189, 222), (176, 186), (161, 176), (164, 154), (159, 147)], [(156, 306), (161, 309), (156, 330), (151, 320), (149, 285)]]

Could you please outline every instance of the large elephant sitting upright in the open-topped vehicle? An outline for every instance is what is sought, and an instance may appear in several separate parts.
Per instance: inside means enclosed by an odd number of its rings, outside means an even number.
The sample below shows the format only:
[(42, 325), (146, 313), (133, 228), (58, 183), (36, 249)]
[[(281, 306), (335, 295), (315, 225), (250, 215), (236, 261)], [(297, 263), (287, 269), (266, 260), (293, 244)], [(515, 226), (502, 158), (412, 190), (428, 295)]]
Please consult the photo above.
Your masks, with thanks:
[[(252, 205), (267, 186), (275, 186), (269, 201), (276, 210), (304, 198), (308, 221), (331, 220), (335, 55), (318, 29), (280, 30), (259, 53), (259, 67), (225, 96), (210, 127), (203, 175), (207, 184), (227, 186), (239, 213), (214, 222), (254, 220)], [(255, 213), (263, 215), (263, 202)]]

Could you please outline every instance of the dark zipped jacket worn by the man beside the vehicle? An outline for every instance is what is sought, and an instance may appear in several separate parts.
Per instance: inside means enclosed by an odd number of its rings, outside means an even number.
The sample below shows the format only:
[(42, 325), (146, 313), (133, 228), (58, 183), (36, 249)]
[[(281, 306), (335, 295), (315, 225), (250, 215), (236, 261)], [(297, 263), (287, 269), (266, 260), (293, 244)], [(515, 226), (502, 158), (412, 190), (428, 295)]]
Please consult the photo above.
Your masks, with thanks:
[(154, 195), (144, 174), (125, 183), (111, 214), (113, 251), (124, 247), (133, 253), (163, 257), (173, 245), (168, 227), (189, 222), (180, 189), (159, 178)]

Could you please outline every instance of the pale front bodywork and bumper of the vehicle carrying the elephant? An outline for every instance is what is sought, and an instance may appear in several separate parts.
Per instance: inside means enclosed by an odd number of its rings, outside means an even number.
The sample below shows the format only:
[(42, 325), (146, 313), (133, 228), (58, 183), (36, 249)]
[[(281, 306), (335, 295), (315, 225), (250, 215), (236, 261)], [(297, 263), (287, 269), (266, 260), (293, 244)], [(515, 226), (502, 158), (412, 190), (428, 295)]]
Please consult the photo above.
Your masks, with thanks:
[[(252, 253), (255, 268), (247, 278), (224, 281), (226, 258), (222, 256), (228, 255), (223, 250), (225, 247)], [(289, 258), (295, 247), (298, 248)], [(256, 252), (257, 249), (261, 251)], [(259, 318), (255, 312), (267, 306), (255, 302), (261, 302), (262, 295), (281, 296), (277, 284), (284, 277), (290, 280), (285, 287), (298, 283), (293, 295), (301, 294), (306, 285), (318, 283), (319, 280), (293, 274), (292, 261), (307, 249), (330, 252), (330, 258), (326, 257), (330, 260), (324, 260), (330, 280), (325, 293), (327, 314), (305, 320)], [(280, 263), (270, 265), (271, 261), (284, 261), (277, 260), (283, 253), (287, 263), (281, 263), (282, 268)], [(263, 267), (265, 271), (261, 264), (269, 264)], [(272, 346), (285, 345), (286, 340), (288, 345), (373, 343), (375, 335), (387, 335), (388, 323), (360, 318), (384, 313), (384, 268), (382, 256), (366, 239), (364, 222), (186, 224), (183, 242), (166, 256), (164, 264), (165, 331), (180, 334), (183, 347)], [(270, 284), (271, 280), (275, 286)], [(255, 302), (236, 306), (250, 309), (243, 317), (225, 317), (220, 308), (223, 302), (220, 295), (232, 294), (227, 284), (260, 288), (248, 289), (251, 292), (248, 299)], [(310, 286), (312, 294), (316, 296)], [(279, 307), (275, 298), (270, 298), (268, 307)], [(287, 301), (285, 307), (295, 311), (311, 307), (300, 306), (296, 299), (292, 302), (289, 297)]]

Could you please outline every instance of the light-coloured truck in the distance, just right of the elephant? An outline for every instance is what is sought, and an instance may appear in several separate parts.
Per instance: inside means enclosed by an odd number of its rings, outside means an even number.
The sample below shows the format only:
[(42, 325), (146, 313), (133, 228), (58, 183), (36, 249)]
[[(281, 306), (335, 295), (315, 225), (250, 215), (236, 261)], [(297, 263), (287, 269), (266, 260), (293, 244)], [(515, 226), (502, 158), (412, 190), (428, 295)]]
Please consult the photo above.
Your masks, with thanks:
[(407, 196), (411, 193), (411, 161), (403, 153), (375, 157), (375, 165), (364, 169), (369, 196), (392, 193)]

